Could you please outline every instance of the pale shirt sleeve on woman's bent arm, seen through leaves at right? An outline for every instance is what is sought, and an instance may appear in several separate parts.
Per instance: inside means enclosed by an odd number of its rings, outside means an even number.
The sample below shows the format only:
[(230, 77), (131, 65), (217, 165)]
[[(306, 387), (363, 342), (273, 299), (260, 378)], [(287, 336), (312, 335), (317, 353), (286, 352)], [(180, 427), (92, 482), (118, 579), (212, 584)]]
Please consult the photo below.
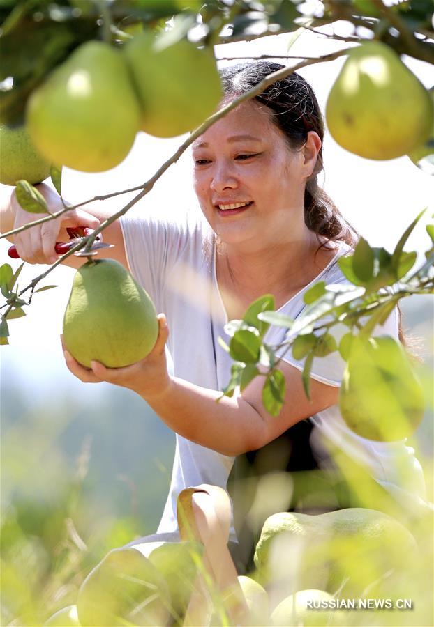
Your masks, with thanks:
[[(324, 318), (324, 322), (330, 321), (331, 318)], [(390, 335), (392, 337), (398, 337), (398, 320), (399, 320), (399, 312), (398, 308), (395, 307), (389, 317), (384, 322), (384, 325), (377, 325), (373, 331), (373, 336), (377, 335)], [(343, 335), (348, 332), (348, 327), (343, 324), (334, 325), (331, 327), (330, 333), (336, 339), (336, 343), (339, 346), (339, 342), (341, 341)], [(283, 361), (287, 362), (294, 368), (297, 368), (300, 371), (304, 369), (304, 359), (294, 359), (292, 354), (288, 351), (286, 355), (283, 357)], [(345, 371), (346, 363), (342, 359), (338, 350), (335, 350), (334, 353), (330, 353), (326, 357), (314, 357), (312, 368), (310, 370), (310, 376), (320, 381), (321, 383), (325, 383), (326, 385), (332, 385), (334, 387), (340, 387), (343, 373)]]

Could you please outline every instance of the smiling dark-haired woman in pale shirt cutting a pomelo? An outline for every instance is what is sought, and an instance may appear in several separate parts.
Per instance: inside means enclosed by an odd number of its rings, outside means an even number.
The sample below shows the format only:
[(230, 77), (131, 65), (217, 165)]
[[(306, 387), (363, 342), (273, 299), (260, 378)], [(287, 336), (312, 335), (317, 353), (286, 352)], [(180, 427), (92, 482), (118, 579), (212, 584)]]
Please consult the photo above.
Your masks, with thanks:
[[(281, 67), (246, 63), (226, 68), (224, 102)], [(290, 444), (298, 459), (294, 462), (288, 452), (286, 467), (315, 467), (318, 456), (324, 456), (317, 435), (324, 434), (361, 460), (377, 482), (398, 483), (423, 496), (421, 467), (405, 442), (369, 442), (345, 426), (337, 405), (344, 368), (338, 353), (315, 359), (310, 401), (301, 381), (303, 364), (285, 355), (280, 369), (287, 392), (277, 418), (262, 405), (262, 378), (216, 403), (232, 364), (218, 344), (227, 320), (242, 318), (265, 293), (274, 295), (276, 309), (297, 318), (313, 282), (347, 282), (337, 261), (357, 234), (317, 186), (323, 132), (315, 95), (294, 73), (232, 110), (194, 142), (194, 186), (204, 219), (180, 216), (169, 223), (144, 211), (140, 218), (126, 215), (107, 228), (105, 237), (115, 247), (106, 255), (130, 268), (166, 315), (160, 314), (158, 341), (142, 362), (122, 369), (94, 362), (88, 370), (66, 351), (66, 364), (84, 382), (132, 389), (177, 433), (172, 485), (158, 527), (158, 534), (166, 535), (160, 539), (177, 536), (180, 490), (200, 483), (226, 488), (235, 456), (262, 449), (285, 433), (295, 433)], [(42, 189), (52, 210), (58, 208), (55, 194)], [(14, 199), (4, 215), (15, 227), (31, 219)], [(100, 208), (75, 210), (61, 224), (47, 222), (20, 233), (15, 243), (26, 261), (52, 263), (54, 242), (65, 235), (65, 226), (95, 228), (105, 217)], [(66, 263), (82, 261), (70, 257)], [(186, 290), (191, 276), (194, 302)], [(398, 336), (396, 311), (376, 331)], [(284, 333), (271, 327), (265, 340), (278, 344)], [(167, 371), (166, 344), (173, 375)], [(288, 431), (296, 424), (299, 431)], [(233, 528), (231, 539), (237, 539)]]

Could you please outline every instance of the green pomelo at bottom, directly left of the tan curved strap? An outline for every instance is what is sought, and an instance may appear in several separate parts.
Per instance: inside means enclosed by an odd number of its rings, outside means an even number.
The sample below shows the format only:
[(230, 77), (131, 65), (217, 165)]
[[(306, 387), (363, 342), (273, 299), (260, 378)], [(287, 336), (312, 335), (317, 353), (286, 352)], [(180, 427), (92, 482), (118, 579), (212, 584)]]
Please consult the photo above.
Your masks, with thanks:
[(133, 548), (147, 557), (165, 578), (172, 602), (172, 619), (175, 624), (181, 625), (193, 591), (203, 545), (193, 541), (144, 542)]

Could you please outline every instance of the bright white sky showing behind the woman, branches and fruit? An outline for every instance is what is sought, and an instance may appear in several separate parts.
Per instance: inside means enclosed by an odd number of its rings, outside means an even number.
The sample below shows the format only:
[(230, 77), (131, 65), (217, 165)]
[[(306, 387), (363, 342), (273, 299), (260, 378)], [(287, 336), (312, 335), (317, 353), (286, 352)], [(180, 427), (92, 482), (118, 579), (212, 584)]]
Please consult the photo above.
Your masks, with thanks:
[[(216, 48), (216, 54), (219, 58), (241, 57), (243, 54), (286, 54), (289, 40), (290, 35), (282, 35), (261, 38), (255, 42), (220, 45)], [(315, 56), (346, 45), (306, 32), (293, 45), (290, 54)], [(284, 62), (279, 59), (276, 61)], [(291, 60), (289, 62), (292, 63)], [(323, 112), (327, 95), (343, 62), (344, 58), (341, 58), (310, 66), (300, 72), (312, 84)], [(405, 59), (405, 62), (426, 87), (434, 85), (434, 68), (428, 63), (413, 59)], [(73, 203), (90, 199), (96, 194), (139, 185), (174, 153), (183, 139), (157, 139), (140, 133), (130, 155), (111, 171), (87, 174), (66, 169), (63, 174), (63, 195)], [(392, 249), (422, 208), (430, 207), (427, 217), (434, 211), (434, 177), (417, 169), (407, 157), (383, 162), (365, 160), (343, 150), (327, 134), (324, 140), (324, 165), (324, 188), (343, 215), (371, 245)], [(114, 208), (120, 208), (126, 203), (126, 196), (110, 202)], [(197, 201), (191, 189), (190, 155), (187, 153), (163, 175), (154, 190), (142, 201), (141, 208), (135, 210), (174, 213), (196, 206)], [(423, 251), (427, 245), (428, 237), (421, 224), (407, 249)], [(5, 240), (0, 241), (1, 263), (8, 261), (16, 269), (20, 262), (8, 258), (8, 246)], [(20, 277), (20, 286), (27, 285), (45, 268), (26, 264)], [(1, 370), (3, 373), (13, 371), (24, 394), (47, 394), (50, 390), (59, 392), (63, 387), (76, 389), (80, 394), (90, 392), (89, 386), (85, 392), (86, 386), (67, 371), (59, 341), (73, 274), (74, 270), (70, 268), (59, 268), (52, 272), (44, 284), (57, 284), (59, 287), (36, 294), (31, 307), (27, 308), (27, 317), (10, 322), (10, 346), (1, 347)], [(104, 387), (98, 387), (99, 392), (103, 392)], [(92, 392), (95, 393), (96, 390)]]

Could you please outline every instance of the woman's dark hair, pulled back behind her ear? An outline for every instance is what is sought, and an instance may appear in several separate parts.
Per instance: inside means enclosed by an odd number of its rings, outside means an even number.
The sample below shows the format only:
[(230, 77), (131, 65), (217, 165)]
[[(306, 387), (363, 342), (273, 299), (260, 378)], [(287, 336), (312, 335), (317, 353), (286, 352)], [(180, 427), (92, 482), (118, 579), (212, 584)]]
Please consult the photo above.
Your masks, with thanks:
[[(225, 95), (241, 95), (260, 83), (267, 75), (284, 68), (279, 63), (257, 61), (237, 63), (220, 69)], [(322, 141), (324, 122), (315, 93), (297, 72), (274, 82), (253, 98), (273, 111), (272, 121), (280, 129), (291, 150), (304, 146), (309, 131), (315, 131)], [(317, 164), (306, 183), (304, 192), (304, 222), (308, 229), (327, 240), (346, 242), (354, 247), (359, 235), (343, 218), (331, 198), (317, 183), (317, 174), (323, 169), (322, 147)]]

